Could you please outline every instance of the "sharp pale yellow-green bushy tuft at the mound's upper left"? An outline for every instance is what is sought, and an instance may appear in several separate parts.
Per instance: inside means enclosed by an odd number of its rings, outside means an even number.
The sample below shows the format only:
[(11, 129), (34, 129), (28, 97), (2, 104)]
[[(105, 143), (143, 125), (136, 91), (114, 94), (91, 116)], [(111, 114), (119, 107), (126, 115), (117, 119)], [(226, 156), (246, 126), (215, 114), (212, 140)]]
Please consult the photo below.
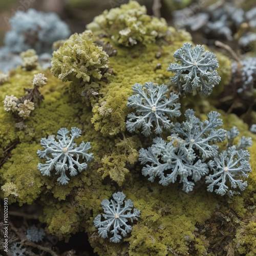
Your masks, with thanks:
[(52, 73), (62, 81), (100, 80), (108, 68), (108, 54), (93, 42), (91, 31), (73, 34), (53, 53)]

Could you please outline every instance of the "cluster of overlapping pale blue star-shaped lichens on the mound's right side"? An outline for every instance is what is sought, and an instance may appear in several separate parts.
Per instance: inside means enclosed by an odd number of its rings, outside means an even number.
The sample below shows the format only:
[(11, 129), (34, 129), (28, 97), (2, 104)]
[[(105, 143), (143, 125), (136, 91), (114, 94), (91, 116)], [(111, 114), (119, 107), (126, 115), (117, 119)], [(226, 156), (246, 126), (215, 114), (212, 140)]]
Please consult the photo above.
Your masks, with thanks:
[[(186, 121), (176, 122), (170, 130), (170, 142), (156, 137), (147, 150), (141, 148), (139, 161), (146, 164), (142, 174), (150, 176), (148, 180), (151, 182), (159, 177), (159, 184), (163, 186), (175, 183), (179, 178), (185, 193), (192, 191), (195, 182), (205, 177), (206, 184), (209, 184), (207, 191), (230, 197), (240, 194), (234, 189), (238, 187), (243, 191), (247, 186), (243, 178), (251, 172), (250, 154), (244, 148), (251, 146), (252, 140), (243, 136), (237, 145), (233, 145), (233, 139), (239, 135), (238, 129), (233, 127), (228, 132), (217, 129), (222, 125), (219, 116), (218, 112), (210, 112), (208, 120), (201, 122), (193, 110), (187, 110)], [(215, 143), (224, 141), (226, 133), (228, 149), (220, 152)], [(209, 173), (210, 170), (212, 173)]]

